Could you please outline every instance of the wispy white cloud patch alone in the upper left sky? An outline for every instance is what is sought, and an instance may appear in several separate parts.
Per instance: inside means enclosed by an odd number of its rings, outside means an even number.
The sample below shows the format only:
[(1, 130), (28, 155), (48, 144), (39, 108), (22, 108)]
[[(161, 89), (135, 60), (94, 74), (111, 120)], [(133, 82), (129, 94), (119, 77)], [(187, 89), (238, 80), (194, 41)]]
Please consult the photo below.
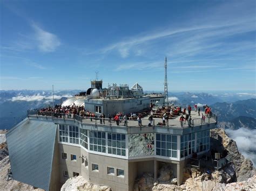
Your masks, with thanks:
[(44, 31), (36, 24), (31, 25), (35, 30), (35, 37), (38, 41), (38, 48), (42, 52), (53, 52), (60, 46), (60, 40), (55, 34)]

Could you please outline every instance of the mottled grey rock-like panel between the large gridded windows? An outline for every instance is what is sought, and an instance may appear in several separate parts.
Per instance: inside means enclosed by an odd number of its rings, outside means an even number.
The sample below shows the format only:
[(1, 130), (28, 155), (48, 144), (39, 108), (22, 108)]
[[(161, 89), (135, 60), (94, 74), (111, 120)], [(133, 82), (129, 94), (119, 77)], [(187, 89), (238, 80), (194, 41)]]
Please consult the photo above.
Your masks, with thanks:
[(129, 135), (129, 157), (154, 155), (154, 133)]

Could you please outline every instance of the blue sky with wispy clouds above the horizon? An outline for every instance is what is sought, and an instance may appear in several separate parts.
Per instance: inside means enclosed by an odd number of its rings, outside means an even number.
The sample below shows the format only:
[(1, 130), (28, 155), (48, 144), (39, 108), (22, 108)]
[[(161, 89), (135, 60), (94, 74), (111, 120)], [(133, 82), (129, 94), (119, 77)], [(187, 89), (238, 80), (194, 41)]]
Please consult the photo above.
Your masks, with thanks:
[(255, 1), (0, 1), (0, 89), (255, 91)]

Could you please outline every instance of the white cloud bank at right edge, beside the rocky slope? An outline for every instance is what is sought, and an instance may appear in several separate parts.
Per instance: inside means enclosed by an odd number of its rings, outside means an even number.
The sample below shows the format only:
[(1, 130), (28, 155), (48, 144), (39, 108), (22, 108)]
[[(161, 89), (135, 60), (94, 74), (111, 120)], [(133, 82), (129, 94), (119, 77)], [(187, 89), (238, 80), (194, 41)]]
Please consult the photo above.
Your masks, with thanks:
[(256, 165), (256, 130), (240, 128), (238, 130), (226, 130), (227, 135), (237, 143), (238, 150)]

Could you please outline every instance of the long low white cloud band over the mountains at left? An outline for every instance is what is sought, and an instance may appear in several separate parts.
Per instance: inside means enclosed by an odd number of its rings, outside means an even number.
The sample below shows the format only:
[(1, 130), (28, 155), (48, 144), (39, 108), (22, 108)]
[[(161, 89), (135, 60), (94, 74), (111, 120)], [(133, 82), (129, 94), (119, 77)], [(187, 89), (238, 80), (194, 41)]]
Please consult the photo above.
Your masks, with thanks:
[[(72, 97), (71, 95), (54, 95), (55, 99), (60, 99), (62, 97)], [(46, 101), (50, 101), (52, 100), (52, 96), (44, 96), (44, 95), (40, 95), (40, 94), (35, 94), (35, 95), (31, 95), (31, 96), (23, 96), (23, 95), (19, 95), (16, 97), (12, 97), (11, 101), (15, 102), (15, 101), (27, 101), (27, 102), (31, 102), (31, 101), (42, 101), (42, 100), (46, 100)]]

